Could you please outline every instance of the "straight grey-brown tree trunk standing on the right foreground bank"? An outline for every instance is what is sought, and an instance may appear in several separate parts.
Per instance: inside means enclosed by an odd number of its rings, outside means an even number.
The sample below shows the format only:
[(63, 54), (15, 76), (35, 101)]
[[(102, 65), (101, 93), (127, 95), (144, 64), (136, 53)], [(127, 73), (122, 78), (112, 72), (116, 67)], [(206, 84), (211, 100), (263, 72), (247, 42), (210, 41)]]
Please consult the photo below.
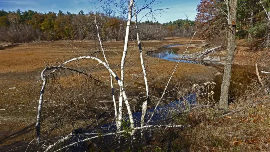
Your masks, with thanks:
[[(228, 24), (229, 27), (232, 26), (232, 22), (236, 21), (237, 13), (237, 0), (224, 0), (227, 5), (228, 10)], [(228, 99), (229, 99), (229, 88), (231, 81), (232, 73), (232, 62), (234, 57), (234, 50), (236, 48), (235, 44), (235, 29), (233, 32), (230, 30), (228, 35), (228, 46), (227, 46), (227, 55), (224, 67), (223, 81), (221, 85), (221, 97), (220, 97), (220, 108), (228, 108)]]

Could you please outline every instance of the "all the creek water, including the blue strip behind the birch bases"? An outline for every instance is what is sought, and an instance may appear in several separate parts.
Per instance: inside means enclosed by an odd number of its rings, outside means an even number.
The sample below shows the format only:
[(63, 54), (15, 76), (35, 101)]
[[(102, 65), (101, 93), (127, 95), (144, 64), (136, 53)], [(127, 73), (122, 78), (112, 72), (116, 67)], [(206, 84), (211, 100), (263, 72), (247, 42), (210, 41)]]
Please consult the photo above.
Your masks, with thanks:
[[(156, 57), (156, 58), (160, 58), (160, 59), (165, 59), (168, 61), (173, 61), (176, 62), (178, 61), (177, 58), (179, 58), (179, 55), (181, 54), (177, 54), (177, 48), (174, 48), (172, 46), (178, 46), (179, 44), (176, 45), (169, 45), (169, 46), (165, 46), (162, 48), (159, 48), (157, 51), (155, 52), (151, 52), (150, 56), (151, 57)], [(172, 48), (171, 48), (172, 47)], [(185, 62), (185, 63), (190, 63), (190, 64), (200, 64), (200, 65), (204, 65), (204, 66), (211, 66), (216, 68), (219, 71), (219, 75), (215, 76), (214, 78), (214, 82), (217, 84), (214, 88), (214, 100), (218, 101), (220, 98), (220, 91), (221, 91), (221, 84), (222, 84), (222, 73), (223, 73), (223, 69), (224, 69), (224, 65), (220, 64), (218, 62), (213, 63), (213, 62), (204, 62), (204, 61), (191, 61), (191, 60), (181, 60), (181, 62)], [(239, 92), (241, 92), (241, 90), (243, 90), (246, 87), (246, 84), (250, 84), (250, 77), (254, 77), (255, 76), (255, 68), (252, 66), (239, 66), (239, 65), (233, 65), (232, 67), (232, 83), (231, 83), (231, 89), (230, 89), (230, 99), (233, 100), (234, 96), (238, 95)], [(187, 103), (184, 103), (183, 98), (176, 100), (176, 101), (168, 101), (167, 104), (163, 104), (161, 106), (158, 106), (156, 108), (156, 111), (151, 119), (151, 121), (148, 123), (148, 125), (155, 125), (157, 122), (159, 122), (160, 120), (163, 120), (165, 118), (167, 118), (168, 116), (170, 116), (170, 114), (172, 113), (177, 113), (180, 112), (184, 109), (186, 109), (187, 107), (190, 107), (192, 105), (196, 104), (196, 94), (188, 94), (184, 97), (184, 99), (186, 100)], [(149, 118), (151, 117), (152, 113), (154, 112), (154, 107), (147, 109), (146, 112), (146, 116), (145, 116), (145, 122), (147, 122), (149, 120)], [(140, 122), (141, 122), (141, 116), (142, 116), (142, 112), (135, 112), (132, 114), (133, 118), (134, 118), (134, 123), (135, 123), (135, 127), (140, 127)], [(128, 117), (124, 117), (123, 118), (125, 120), (125, 122), (129, 122)], [(99, 125), (98, 128), (96, 129), (76, 129), (74, 130), (74, 133), (78, 134), (78, 133), (108, 133), (108, 132), (115, 132), (116, 131), (116, 124), (115, 122), (112, 123), (108, 123), (108, 124), (104, 124), (104, 125)], [(80, 139), (84, 139), (85, 137), (80, 137), (80, 136), (76, 136), (75, 140), (78, 140), (78, 138)], [(96, 143), (97, 139), (94, 139), (93, 142)], [(107, 137), (103, 138), (103, 142), (105, 140), (109, 140)], [(70, 141), (67, 141), (66, 144), (72, 143), (74, 142), (73, 139), (71, 139)], [(69, 151), (71, 152), (75, 152), (78, 150), (84, 150), (86, 147), (88, 146), (87, 142), (83, 142), (80, 143), (80, 147), (77, 146), (72, 146), (69, 148)]]

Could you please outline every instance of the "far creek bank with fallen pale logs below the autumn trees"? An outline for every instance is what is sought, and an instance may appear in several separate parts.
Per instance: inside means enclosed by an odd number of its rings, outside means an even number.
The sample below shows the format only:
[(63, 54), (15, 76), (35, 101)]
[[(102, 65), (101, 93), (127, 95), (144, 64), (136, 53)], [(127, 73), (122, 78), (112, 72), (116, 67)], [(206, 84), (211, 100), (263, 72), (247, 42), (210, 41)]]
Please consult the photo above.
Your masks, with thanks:
[[(250, 48), (250, 44), (246, 42), (246, 40), (236, 40), (236, 42), (237, 48), (234, 53), (233, 64), (254, 66), (255, 63), (257, 63), (261, 66), (270, 65), (269, 49), (258, 48), (257, 50), (254, 50)], [(186, 47), (188, 46), (188, 44), (189, 42), (175, 42), (174, 44), (169, 45), (169, 49), (172, 50), (175, 54), (183, 54), (186, 51)], [(207, 44), (205, 41), (197, 40), (195, 43), (190, 44), (185, 55), (190, 55), (210, 48), (213, 47), (210, 47), (209, 44)], [(159, 51), (160, 49), (162, 48), (159, 48), (156, 51)], [(225, 46), (222, 46), (220, 50), (213, 51), (212, 53), (203, 56), (199, 60), (213, 62), (213, 64), (224, 64), (224, 61), (226, 59), (226, 52), (227, 51), (225, 50)], [(179, 57), (174, 55), (174, 58), (178, 59)]]

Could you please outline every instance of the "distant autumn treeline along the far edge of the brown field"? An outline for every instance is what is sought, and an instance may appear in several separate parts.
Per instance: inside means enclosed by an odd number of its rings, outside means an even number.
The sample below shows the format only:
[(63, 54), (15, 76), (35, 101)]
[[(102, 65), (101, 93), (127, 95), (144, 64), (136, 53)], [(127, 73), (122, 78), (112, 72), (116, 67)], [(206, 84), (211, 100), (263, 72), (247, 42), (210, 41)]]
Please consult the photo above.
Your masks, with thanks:
[[(0, 41), (31, 42), (34, 40), (90, 40), (97, 39), (97, 24), (102, 40), (124, 40), (126, 20), (123, 17), (111, 16), (100, 12), (78, 14), (64, 13), (59, 10), (38, 13), (32, 10), (6, 12), (0, 10)], [(193, 21), (190, 21), (194, 24)], [(173, 22), (174, 23), (174, 22)], [(164, 39), (165, 37), (192, 36), (188, 20), (179, 20), (177, 24), (146, 21), (140, 23), (142, 40)], [(179, 24), (181, 23), (181, 24)], [(132, 28), (135, 23), (132, 22)], [(131, 30), (131, 39), (136, 39), (135, 30)]]

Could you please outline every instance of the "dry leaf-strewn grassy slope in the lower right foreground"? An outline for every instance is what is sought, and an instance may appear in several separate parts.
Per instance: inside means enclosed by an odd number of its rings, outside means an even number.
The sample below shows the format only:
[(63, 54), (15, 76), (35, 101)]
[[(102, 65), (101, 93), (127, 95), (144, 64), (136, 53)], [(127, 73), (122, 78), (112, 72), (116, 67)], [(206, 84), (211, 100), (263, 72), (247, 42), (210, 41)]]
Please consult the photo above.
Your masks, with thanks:
[[(257, 79), (252, 79), (243, 93), (230, 103), (228, 111), (200, 108), (179, 116), (176, 122), (191, 127), (178, 130), (175, 138), (163, 134), (162, 139), (156, 139), (164, 140), (159, 146), (167, 151), (166, 142), (169, 142), (169, 149), (175, 152), (269, 152), (268, 79), (264, 77), (264, 87)], [(225, 116), (227, 113), (230, 115)], [(169, 141), (170, 137), (173, 139)]]

